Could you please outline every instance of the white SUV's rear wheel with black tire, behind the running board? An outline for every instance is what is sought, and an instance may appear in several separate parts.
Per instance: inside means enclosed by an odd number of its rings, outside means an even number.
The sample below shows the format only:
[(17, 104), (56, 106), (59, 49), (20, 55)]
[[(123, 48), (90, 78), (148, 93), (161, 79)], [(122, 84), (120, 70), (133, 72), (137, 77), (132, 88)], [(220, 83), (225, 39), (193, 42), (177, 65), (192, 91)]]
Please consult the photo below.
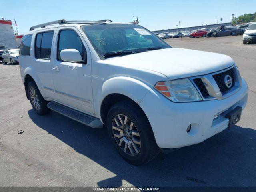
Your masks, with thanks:
[(44, 100), (33, 81), (28, 82), (27, 93), (30, 103), (38, 115), (44, 115), (50, 112), (50, 109), (47, 107), (48, 101)]

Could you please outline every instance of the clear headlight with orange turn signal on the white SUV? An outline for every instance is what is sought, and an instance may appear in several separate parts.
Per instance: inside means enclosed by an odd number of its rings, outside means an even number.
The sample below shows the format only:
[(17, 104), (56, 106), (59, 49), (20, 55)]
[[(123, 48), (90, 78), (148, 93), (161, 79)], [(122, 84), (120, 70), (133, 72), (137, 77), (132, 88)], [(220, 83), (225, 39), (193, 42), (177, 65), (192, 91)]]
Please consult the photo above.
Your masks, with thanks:
[(189, 79), (158, 82), (154, 88), (173, 102), (201, 101), (199, 93)]

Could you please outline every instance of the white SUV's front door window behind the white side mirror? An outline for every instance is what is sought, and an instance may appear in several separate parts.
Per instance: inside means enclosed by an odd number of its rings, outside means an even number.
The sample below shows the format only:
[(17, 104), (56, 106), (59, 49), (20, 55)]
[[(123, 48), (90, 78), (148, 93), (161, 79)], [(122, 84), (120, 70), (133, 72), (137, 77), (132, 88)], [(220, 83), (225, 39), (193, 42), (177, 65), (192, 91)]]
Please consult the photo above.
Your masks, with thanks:
[(73, 30), (61, 30), (58, 40), (58, 60), (60, 58), (60, 52), (64, 49), (76, 49), (80, 52), (82, 60), (87, 60), (87, 53), (84, 44), (78, 34)]

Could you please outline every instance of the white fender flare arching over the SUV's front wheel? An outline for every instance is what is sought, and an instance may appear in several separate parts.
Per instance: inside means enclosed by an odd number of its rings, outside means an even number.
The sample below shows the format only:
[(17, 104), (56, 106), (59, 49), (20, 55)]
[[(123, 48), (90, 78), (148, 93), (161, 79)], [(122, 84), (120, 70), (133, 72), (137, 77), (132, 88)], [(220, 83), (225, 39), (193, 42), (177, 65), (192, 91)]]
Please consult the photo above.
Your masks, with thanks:
[(122, 94), (139, 104), (149, 90), (151, 90), (150, 86), (134, 78), (124, 76), (110, 78), (97, 91), (94, 99), (95, 114), (102, 121), (100, 106), (104, 98), (109, 94)]

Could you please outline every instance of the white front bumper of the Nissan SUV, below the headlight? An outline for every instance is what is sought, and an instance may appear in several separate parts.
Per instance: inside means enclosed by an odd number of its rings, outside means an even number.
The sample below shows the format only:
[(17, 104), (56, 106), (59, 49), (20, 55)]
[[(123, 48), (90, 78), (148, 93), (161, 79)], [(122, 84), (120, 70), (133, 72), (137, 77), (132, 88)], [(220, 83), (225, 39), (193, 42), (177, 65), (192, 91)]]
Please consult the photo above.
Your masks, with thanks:
[[(180, 148), (200, 143), (228, 127), (224, 113), (236, 106), (245, 108), (248, 87), (242, 80), (238, 92), (223, 100), (174, 103), (150, 90), (140, 102), (151, 124), (156, 143), (160, 148)], [(190, 132), (186, 132), (189, 125)]]

